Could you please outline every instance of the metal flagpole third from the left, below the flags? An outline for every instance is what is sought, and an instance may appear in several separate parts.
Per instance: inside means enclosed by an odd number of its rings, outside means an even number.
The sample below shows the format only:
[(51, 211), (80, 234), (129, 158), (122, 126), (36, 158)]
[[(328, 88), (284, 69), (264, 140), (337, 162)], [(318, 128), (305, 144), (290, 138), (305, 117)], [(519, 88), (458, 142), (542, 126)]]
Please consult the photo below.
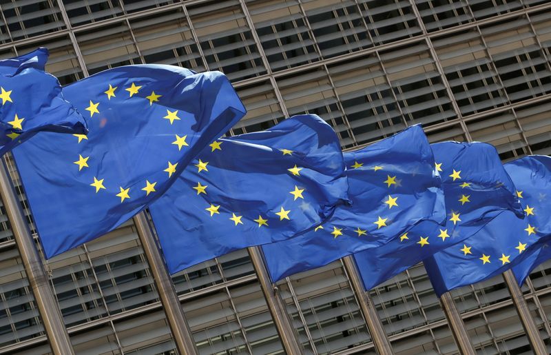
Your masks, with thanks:
[(266, 303), (271, 313), (271, 318), (275, 327), (278, 329), (281, 343), (286, 354), (301, 355), (302, 346), (298, 341), (298, 334), (295, 332), (295, 327), (291, 323), (291, 318), (287, 314), (285, 309), (285, 303), (281, 296), (275, 293), (274, 287), (271, 283), (270, 276), (264, 265), (264, 258), (258, 247), (248, 247), (249, 256), (251, 256), (251, 262), (253, 263), (254, 270), (258, 276), (258, 282), (262, 287), (262, 293), (266, 298)]

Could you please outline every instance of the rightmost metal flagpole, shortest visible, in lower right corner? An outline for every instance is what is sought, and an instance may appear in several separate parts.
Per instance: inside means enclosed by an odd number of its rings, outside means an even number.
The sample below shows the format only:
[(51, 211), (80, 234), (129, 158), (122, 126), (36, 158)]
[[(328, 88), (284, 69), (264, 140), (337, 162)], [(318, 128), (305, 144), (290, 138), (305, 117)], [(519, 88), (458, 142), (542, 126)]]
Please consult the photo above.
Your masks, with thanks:
[(526, 332), (526, 336), (528, 336), (530, 345), (532, 345), (534, 354), (548, 354), (545, 344), (539, 336), (539, 330), (536, 323), (534, 323), (532, 314), (530, 314), (528, 303), (526, 303), (526, 299), (522, 294), (521, 288), (517, 285), (517, 279), (514, 277), (511, 270), (503, 272), (503, 280), (505, 280), (505, 283), (507, 284), (509, 293), (511, 294), (512, 303), (514, 304), (514, 307), (517, 308), (517, 313), (519, 314), (519, 318), (521, 318), (524, 331)]

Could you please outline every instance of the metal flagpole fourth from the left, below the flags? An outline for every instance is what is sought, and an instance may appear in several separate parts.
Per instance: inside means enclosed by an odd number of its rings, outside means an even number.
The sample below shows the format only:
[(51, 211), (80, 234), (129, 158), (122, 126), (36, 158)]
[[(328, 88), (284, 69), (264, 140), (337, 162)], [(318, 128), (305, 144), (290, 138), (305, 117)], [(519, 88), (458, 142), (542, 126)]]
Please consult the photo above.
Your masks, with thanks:
[(344, 263), (344, 269), (349, 276), (349, 280), (352, 283), (354, 293), (357, 296), (357, 301), (360, 303), (360, 308), (364, 314), (364, 318), (367, 323), (367, 328), (373, 344), (375, 344), (375, 350), (379, 355), (391, 355), (394, 351), (391, 346), (391, 342), (388, 341), (386, 332), (379, 318), (379, 314), (371, 296), (364, 290), (364, 285), (360, 279), (360, 273), (357, 271), (357, 265), (352, 256), (345, 256), (342, 258)]

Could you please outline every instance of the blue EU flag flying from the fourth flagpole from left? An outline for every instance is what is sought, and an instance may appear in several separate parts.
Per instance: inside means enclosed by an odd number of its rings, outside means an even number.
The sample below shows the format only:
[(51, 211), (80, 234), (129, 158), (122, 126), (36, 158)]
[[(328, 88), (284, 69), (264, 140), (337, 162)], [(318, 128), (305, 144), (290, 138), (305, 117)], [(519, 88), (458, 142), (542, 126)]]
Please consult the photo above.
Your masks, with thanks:
[(355, 254), (366, 290), (478, 232), (501, 212), (523, 211), (499, 155), (486, 143), (431, 145), (443, 179), (446, 225), (420, 223), (382, 247)]

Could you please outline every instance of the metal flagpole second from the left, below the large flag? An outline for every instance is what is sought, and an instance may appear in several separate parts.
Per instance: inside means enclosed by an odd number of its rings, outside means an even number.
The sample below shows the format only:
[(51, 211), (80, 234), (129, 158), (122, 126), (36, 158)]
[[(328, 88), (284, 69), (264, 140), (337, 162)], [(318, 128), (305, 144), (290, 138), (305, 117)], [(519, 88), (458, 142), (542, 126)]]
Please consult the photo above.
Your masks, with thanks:
[(140, 212), (134, 216), (134, 224), (149, 262), (149, 269), (152, 271), (160, 303), (163, 305), (163, 310), (167, 316), (176, 348), (180, 355), (199, 354), (182, 305), (180, 305), (178, 294), (176, 294), (176, 289), (174, 289), (163, 258), (160, 256), (159, 248), (145, 212)]

